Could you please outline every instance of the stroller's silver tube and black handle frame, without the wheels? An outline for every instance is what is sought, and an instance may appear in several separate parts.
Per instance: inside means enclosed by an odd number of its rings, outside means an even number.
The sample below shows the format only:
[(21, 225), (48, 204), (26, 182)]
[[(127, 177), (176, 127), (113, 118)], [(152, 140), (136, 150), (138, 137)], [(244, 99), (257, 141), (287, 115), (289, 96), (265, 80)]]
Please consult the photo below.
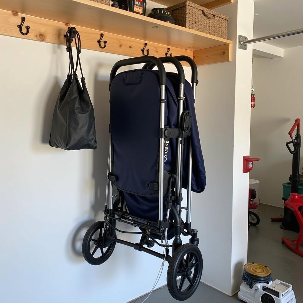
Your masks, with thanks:
[[(105, 221), (110, 225), (111, 231), (109, 234), (111, 235), (110, 238), (108, 238), (110, 241), (115, 241), (116, 243), (124, 244), (130, 247), (135, 248), (138, 251), (145, 251), (151, 255), (154, 255), (158, 258), (163, 259), (165, 254), (157, 253), (151, 249), (143, 247), (143, 245), (146, 242), (146, 237), (150, 237), (150, 235), (145, 235), (142, 233), (141, 243), (131, 243), (128, 241), (124, 241), (118, 238), (114, 238), (115, 235), (115, 221), (120, 221), (129, 225), (133, 225), (139, 228), (146, 228), (151, 230), (154, 233), (160, 234), (161, 231), (163, 231), (165, 228), (168, 228), (169, 222), (168, 216), (171, 212), (171, 215), (173, 217), (173, 220), (175, 222), (175, 240), (173, 242), (173, 251), (175, 251), (180, 245), (182, 245), (182, 241), (180, 238), (181, 233), (185, 236), (191, 235), (191, 190), (187, 191), (187, 206), (186, 208), (181, 207), (181, 201), (182, 201), (182, 175), (181, 175), (181, 168), (182, 168), (182, 160), (183, 160), (183, 145), (182, 145), (182, 132), (183, 132), (183, 139), (185, 135), (190, 135), (190, 131), (185, 133), (185, 130), (182, 129), (182, 121), (181, 116), (183, 113), (183, 101), (185, 99), (184, 97), (184, 82), (185, 82), (185, 76), (184, 76), (184, 70), (180, 63), (180, 61), (188, 62), (191, 65), (192, 69), (192, 88), (193, 93), (195, 97), (195, 89), (196, 85), (198, 83), (197, 80), (197, 67), (193, 60), (187, 56), (177, 56), (177, 57), (162, 57), (162, 58), (156, 58), (153, 56), (145, 56), (145, 57), (138, 57), (138, 58), (130, 58), (125, 59), (117, 62), (111, 71), (110, 74), (110, 82), (109, 82), (109, 89), (112, 83), (113, 78), (115, 77), (118, 69), (122, 66), (127, 65), (135, 65), (140, 63), (145, 63), (143, 68), (149, 68), (152, 69), (154, 66), (157, 66), (159, 70), (159, 85), (160, 85), (160, 150), (159, 150), (159, 215), (158, 215), (158, 222), (146, 220), (144, 218), (140, 218), (138, 216), (129, 214), (125, 211), (123, 211), (122, 208), (120, 209), (114, 209), (114, 202), (113, 198), (117, 195), (113, 195), (113, 176), (111, 175), (111, 163), (112, 163), (112, 138), (110, 134), (109, 138), (109, 152), (108, 152), (108, 178), (107, 178), (107, 185), (106, 185), (106, 200), (105, 200), (105, 210), (104, 210), (104, 219)], [(180, 80), (180, 87), (179, 87), (179, 109), (178, 109), (178, 118), (179, 118), (179, 127), (175, 129), (168, 129), (165, 128), (164, 125), (164, 111), (165, 111), (165, 84), (166, 84), (166, 72), (165, 68), (162, 63), (172, 63), (175, 65), (178, 71), (179, 80)], [(174, 132), (173, 134), (166, 135), (168, 132)], [(176, 176), (176, 184), (177, 184), (177, 201), (172, 205), (166, 205), (168, 207), (166, 220), (163, 220), (163, 171), (164, 171), (164, 142), (165, 139), (178, 137), (178, 149), (177, 149), (177, 176)], [(191, 161), (191, 145), (190, 145), (190, 152), (188, 157), (188, 188), (191, 188), (191, 170), (192, 170), (192, 161)], [(118, 201), (117, 201), (118, 203)], [(167, 203), (166, 203), (167, 204)], [(186, 209), (186, 222), (184, 223), (181, 219), (181, 209)], [(138, 219), (138, 220), (134, 220)], [(147, 224), (143, 224), (139, 220), (147, 221)], [(183, 223), (183, 224), (182, 224)], [(186, 229), (186, 231), (185, 231)], [(193, 230), (194, 239), (197, 241), (197, 231)], [(145, 241), (144, 241), (145, 240)], [(159, 245), (157, 241), (155, 241), (156, 244)], [(162, 245), (160, 245), (162, 246)], [(166, 254), (166, 261), (169, 261), (171, 256)]]

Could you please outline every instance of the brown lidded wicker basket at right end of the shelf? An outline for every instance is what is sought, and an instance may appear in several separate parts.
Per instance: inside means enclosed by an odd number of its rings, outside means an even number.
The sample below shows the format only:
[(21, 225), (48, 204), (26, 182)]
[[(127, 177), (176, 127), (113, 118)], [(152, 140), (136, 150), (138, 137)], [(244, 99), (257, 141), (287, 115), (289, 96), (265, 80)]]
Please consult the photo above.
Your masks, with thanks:
[(190, 1), (167, 8), (175, 24), (227, 39), (228, 16), (214, 12)]

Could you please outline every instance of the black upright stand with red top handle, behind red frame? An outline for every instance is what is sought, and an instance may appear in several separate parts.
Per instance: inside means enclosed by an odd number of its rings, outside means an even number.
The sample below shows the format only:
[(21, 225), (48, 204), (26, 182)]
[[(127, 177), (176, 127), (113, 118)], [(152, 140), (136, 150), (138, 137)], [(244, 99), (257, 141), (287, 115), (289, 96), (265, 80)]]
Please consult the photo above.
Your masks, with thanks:
[[(292, 134), (297, 128), (295, 139)], [(300, 181), (300, 148), (301, 148), (301, 135), (300, 135), (300, 119), (296, 119), (294, 125), (291, 127), (288, 132), (290, 135), (291, 141), (286, 142), (286, 147), (288, 151), (292, 154), (292, 171), (289, 177), (289, 181), (291, 182), (291, 193), (298, 193), (299, 191), (299, 181)], [(290, 145), (293, 145), (293, 149), (290, 148)], [(283, 198), (284, 202), (287, 198)], [(293, 211), (286, 206), (286, 202), (284, 203), (284, 217), (271, 218), (271, 221), (281, 222), (280, 228), (297, 231), (299, 230), (299, 225), (294, 215)]]

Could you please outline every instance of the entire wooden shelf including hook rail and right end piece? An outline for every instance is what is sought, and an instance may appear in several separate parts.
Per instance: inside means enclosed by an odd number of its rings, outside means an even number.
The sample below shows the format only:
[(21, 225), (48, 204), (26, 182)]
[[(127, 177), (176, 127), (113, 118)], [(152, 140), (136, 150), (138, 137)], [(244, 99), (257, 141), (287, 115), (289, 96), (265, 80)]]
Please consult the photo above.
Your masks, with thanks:
[[(206, 64), (230, 61), (230, 40), (127, 12), (91, 0), (0, 0), (0, 9), (3, 10), (2, 15), (5, 16), (5, 18), (0, 19), (0, 34), (2, 35), (31, 39), (30, 34), (35, 31), (35, 25), (39, 28), (45, 25), (42, 35), (48, 37), (46, 42), (64, 43), (63, 39), (61, 39), (62, 41), (59, 39), (59, 42), (55, 40), (55, 37), (50, 39), (47, 32), (52, 31), (51, 26), (57, 28), (62, 28), (63, 26), (63, 28), (66, 28), (69, 25), (74, 25), (77, 29), (81, 27), (81, 30), (78, 29), (78, 31), (84, 42), (83, 48), (134, 56), (137, 52), (140, 55), (143, 47), (142, 42), (147, 42), (146, 49), (150, 49), (150, 55), (157, 55), (158, 57), (163, 56), (166, 52), (162, 52), (162, 49), (166, 48), (167, 50), (167, 47), (170, 47), (171, 52), (175, 50), (173, 52), (174, 55), (183, 53), (195, 57), (195, 51), (199, 51), (199, 64), (204, 64), (203, 58), (207, 58), (206, 61), (208, 63)], [(7, 12), (5, 13), (4, 10)], [(16, 13), (8, 15), (9, 12), (18, 12), (19, 15)], [(23, 15), (26, 16), (27, 20), (25, 25), (31, 26), (28, 36), (20, 35), (17, 28), (17, 24), (20, 24), (21, 16)], [(52, 23), (54, 21), (56, 24)], [(48, 23), (48, 26), (46, 26), (46, 23)], [(60, 25), (57, 23), (60, 23)], [(9, 33), (5, 29), (8, 25), (10, 26)], [(62, 31), (64, 30), (62, 29)], [(83, 32), (87, 33), (85, 38), (82, 35)], [(99, 38), (101, 32), (104, 33), (104, 40), (108, 41), (107, 47), (101, 50), (100, 48), (98, 49), (98, 44), (93, 48), (89, 46), (92, 42), (94, 45), (96, 44), (95, 41)], [(92, 34), (95, 35), (94, 38), (92, 38)], [(41, 39), (38, 36), (36, 34), (32, 39), (45, 41), (45, 39)], [(55, 36), (55, 33), (52, 36)], [(85, 40), (89, 40), (90, 37), (92, 41), (85, 43)], [(110, 50), (110, 38), (115, 39), (115, 44), (118, 43), (117, 39), (121, 41), (117, 44), (115, 50)], [(128, 50), (131, 49), (131, 54), (126, 52), (126, 50), (122, 53), (122, 50), (117, 49), (123, 48), (125, 43), (127, 44), (126, 48)], [(136, 52), (132, 49), (132, 43), (140, 45)], [(157, 46), (161, 48), (161, 52), (159, 52)], [(216, 49), (221, 50), (222, 47), (224, 48), (223, 52), (216, 52)], [(207, 51), (201, 52), (201, 49), (209, 49), (211, 54), (208, 55)]]

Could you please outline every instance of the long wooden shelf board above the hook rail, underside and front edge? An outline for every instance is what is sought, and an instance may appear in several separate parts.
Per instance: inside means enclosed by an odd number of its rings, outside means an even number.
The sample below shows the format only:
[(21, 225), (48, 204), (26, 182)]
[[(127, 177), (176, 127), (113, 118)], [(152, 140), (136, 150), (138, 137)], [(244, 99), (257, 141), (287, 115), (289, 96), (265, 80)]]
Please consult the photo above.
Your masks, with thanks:
[(192, 51), (231, 43), (91, 0), (0, 0), (0, 9)]

